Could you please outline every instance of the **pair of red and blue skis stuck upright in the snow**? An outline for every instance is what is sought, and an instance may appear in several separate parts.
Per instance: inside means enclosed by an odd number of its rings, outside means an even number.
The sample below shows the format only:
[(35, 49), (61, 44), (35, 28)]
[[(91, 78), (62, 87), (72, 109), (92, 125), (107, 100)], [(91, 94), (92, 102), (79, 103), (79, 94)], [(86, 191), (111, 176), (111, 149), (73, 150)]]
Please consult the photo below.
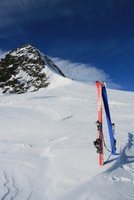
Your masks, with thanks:
[(102, 130), (102, 124), (103, 124), (102, 100), (103, 100), (105, 113), (106, 113), (112, 155), (116, 155), (116, 140), (114, 139), (113, 127), (112, 127), (112, 123), (111, 123), (106, 85), (105, 85), (105, 83), (96, 81), (96, 87), (97, 87), (97, 94), (98, 94), (98, 120), (96, 122), (97, 130), (98, 130), (98, 138), (96, 139), (96, 141), (94, 141), (94, 145), (97, 148), (97, 152), (99, 153), (99, 165), (102, 166), (102, 165), (104, 165), (104, 156), (103, 156), (103, 142), (104, 142), (103, 137), (104, 136), (103, 136), (103, 130)]

